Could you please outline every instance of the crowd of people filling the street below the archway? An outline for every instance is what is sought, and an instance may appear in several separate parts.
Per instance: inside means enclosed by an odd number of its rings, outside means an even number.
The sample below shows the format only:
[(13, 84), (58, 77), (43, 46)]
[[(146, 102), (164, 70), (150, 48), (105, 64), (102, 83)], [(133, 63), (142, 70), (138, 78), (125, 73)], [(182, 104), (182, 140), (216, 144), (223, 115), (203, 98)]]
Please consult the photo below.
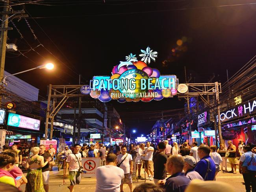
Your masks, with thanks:
[[(238, 146), (241, 155), (239, 159), (239, 173), (243, 175), (247, 192), (256, 191), (256, 148), (241, 142)], [(26, 162), (22, 162), (22, 152), (13, 145), (0, 153), (0, 184), (5, 183), (19, 189), (26, 185), (26, 192), (48, 192), (50, 170), (54, 165), (55, 150), (45, 145), (32, 147)], [(159, 192), (186, 192), (191, 185), (202, 185), (202, 182), (214, 181), (219, 171), (236, 174), (236, 146), (228, 141), (227, 149), (223, 144), (208, 146), (193, 142), (189, 146), (184, 142), (180, 146), (174, 142), (159, 142), (157, 146), (150, 142), (130, 145), (104, 146), (96, 142), (87, 146), (75, 144), (65, 149), (59, 155), (66, 156), (64, 176), (69, 175), (70, 192), (74, 192), (74, 185), (81, 181), (81, 174), (85, 173), (82, 157), (100, 157), (100, 167), (96, 168), (96, 192), (122, 192), (123, 185), (128, 184), (132, 192), (133, 164), (136, 164), (138, 179), (148, 179), (154, 184), (137, 186), (134, 192), (150, 191), (148, 186)], [(227, 170), (227, 159), (231, 170)], [(26, 177), (19, 168), (22, 164), (27, 169)], [(141, 176), (141, 168), (145, 169), (147, 178)], [(111, 173), (111, 174), (110, 174)], [(167, 174), (170, 176), (167, 178)], [(221, 185), (221, 184), (220, 184)], [(14, 191), (14, 190), (13, 190)], [(232, 191), (232, 189), (230, 189)]]

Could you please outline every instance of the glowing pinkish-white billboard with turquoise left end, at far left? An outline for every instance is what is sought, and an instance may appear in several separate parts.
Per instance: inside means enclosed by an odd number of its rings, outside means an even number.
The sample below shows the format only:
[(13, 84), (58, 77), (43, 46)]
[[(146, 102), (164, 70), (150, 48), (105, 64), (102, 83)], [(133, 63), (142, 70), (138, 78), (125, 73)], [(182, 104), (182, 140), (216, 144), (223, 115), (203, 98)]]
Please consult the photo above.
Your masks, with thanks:
[(15, 113), (9, 113), (7, 125), (39, 131), (40, 120), (33, 119), (30, 117), (25, 117)]

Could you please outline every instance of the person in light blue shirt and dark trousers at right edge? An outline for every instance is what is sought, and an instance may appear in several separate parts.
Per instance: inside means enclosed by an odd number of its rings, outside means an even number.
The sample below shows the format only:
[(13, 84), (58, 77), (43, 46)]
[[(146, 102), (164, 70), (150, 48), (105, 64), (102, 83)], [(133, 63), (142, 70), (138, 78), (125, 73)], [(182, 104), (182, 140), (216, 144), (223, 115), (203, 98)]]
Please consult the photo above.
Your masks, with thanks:
[(239, 173), (243, 174), (246, 192), (256, 191), (256, 154), (252, 153), (250, 146), (243, 146), (244, 153), (239, 160)]

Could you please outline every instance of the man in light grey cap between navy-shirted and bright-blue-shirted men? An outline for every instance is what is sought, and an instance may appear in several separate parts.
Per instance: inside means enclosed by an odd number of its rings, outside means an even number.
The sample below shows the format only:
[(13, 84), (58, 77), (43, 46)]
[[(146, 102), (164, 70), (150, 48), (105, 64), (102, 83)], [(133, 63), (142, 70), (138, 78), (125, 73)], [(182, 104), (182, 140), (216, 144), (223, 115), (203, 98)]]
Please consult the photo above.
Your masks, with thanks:
[(199, 175), (198, 172), (194, 171), (194, 168), (197, 164), (195, 158), (192, 156), (186, 155), (184, 156), (184, 161), (185, 161), (185, 164), (184, 164), (183, 170), (185, 172), (185, 176), (190, 180), (200, 179), (204, 181), (203, 177)]

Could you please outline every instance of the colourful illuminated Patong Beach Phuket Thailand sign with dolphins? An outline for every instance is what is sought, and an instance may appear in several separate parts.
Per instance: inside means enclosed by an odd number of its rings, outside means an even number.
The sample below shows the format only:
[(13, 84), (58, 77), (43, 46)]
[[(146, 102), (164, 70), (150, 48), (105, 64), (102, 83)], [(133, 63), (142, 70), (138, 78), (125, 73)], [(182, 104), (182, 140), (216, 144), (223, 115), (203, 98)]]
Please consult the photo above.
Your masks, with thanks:
[[(102, 102), (118, 100), (124, 102), (150, 102), (162, 100), (177, 94), (178, 79), (175, 75), (160, 75), (156, 68), (148, 66), (150, 60), (155, 61), (157, 52), (149, 47), (141, 50), (141, 61), (136, 55), (126, 56), (126, 61), (120, 61), (114, 66), (112, 76), (95, 76), (90, 81), (90, 86), (81, 88), (82, 94), (90, 94), (92, 98)], [(89, 91), (85, 92), (85, 89)]]

